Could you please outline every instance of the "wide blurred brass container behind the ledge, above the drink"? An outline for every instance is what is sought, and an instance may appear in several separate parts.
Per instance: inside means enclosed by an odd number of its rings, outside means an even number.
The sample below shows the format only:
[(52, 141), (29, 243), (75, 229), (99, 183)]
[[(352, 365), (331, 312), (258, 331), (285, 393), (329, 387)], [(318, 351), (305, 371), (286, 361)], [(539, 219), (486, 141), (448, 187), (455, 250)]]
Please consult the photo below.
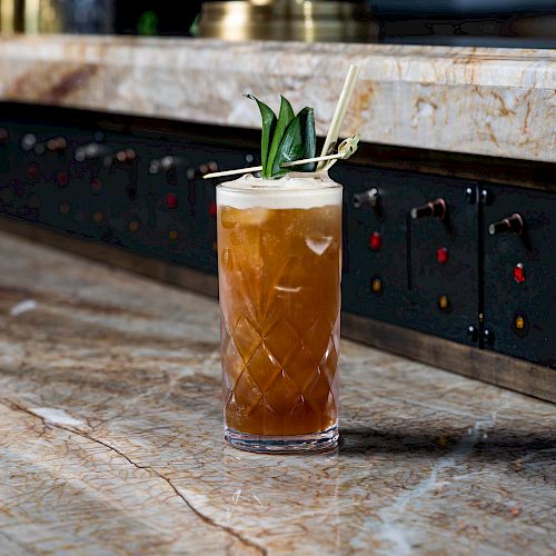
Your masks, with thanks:
[(378, 36), (360, 2), (245, 0), (205, 2), (199, 37), (224, 40), (365, 42)]

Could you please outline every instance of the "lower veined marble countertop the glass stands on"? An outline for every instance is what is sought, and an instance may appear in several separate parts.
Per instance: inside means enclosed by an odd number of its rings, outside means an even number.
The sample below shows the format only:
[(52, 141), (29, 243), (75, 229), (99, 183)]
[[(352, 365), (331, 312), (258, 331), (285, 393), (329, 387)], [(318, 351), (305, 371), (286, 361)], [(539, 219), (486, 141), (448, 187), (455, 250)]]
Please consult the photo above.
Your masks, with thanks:
[(0, 554), (554, 554), (555, 406), (341, 344), (341, 446), (222, 441), (214, 300), (0, 235)]

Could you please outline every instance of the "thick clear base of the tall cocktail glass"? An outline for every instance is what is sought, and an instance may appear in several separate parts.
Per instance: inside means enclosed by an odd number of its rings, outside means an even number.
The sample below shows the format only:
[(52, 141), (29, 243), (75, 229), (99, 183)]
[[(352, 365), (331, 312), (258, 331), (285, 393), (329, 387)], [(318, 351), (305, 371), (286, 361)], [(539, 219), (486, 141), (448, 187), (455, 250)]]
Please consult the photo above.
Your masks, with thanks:
[(331, 451), (338, 447), (338, 425), (322, 433), (295, 436), (264, 436), (225, 427), (224, 438), (234, 448), (258, 454), (307, 454)]

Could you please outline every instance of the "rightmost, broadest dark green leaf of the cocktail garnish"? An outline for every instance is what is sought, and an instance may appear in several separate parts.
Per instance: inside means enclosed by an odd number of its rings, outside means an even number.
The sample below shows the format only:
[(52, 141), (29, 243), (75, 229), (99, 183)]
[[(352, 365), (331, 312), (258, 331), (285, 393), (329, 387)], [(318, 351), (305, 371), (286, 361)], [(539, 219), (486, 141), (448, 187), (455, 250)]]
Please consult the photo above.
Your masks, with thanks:
[(314, 158), (316, 148), (315, 113), (312, 108), (306, 107), (286, 128), (276, 153), (270, 177), (280, 176), (289, 171), (314, 171), (316, 162), (291, 168), (281, 168), (281, 165), (304, 158)]

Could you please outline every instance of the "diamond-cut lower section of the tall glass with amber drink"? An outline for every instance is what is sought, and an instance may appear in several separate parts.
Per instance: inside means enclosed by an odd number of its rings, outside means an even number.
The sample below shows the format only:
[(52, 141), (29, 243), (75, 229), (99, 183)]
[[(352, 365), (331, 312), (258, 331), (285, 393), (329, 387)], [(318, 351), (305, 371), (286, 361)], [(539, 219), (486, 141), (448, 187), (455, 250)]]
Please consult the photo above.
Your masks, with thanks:
[(262, 426), (270, 416), (274, 423), (276, 416), (311, 421), (334, 408), (338, 331), (339, 318), (330, 322), (324, 315), (305, 331), (285, 318), (260, 327), (241, 317), (230, 329), (222, 315), (228, 420), (248, 414)]

